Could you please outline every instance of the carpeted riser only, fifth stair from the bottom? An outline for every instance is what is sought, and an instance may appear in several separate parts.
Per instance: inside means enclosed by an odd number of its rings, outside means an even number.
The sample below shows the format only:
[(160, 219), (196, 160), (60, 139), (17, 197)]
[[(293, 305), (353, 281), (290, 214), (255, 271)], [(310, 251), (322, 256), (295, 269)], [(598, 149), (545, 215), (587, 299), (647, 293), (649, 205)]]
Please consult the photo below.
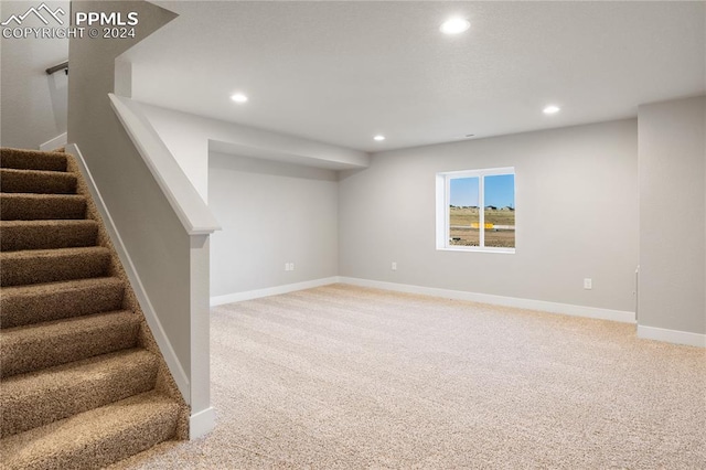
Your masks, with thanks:
[(56, 282), (108, 275), (110, 256), (90, 253), (76, 256), (3, 258), (1, 286)]

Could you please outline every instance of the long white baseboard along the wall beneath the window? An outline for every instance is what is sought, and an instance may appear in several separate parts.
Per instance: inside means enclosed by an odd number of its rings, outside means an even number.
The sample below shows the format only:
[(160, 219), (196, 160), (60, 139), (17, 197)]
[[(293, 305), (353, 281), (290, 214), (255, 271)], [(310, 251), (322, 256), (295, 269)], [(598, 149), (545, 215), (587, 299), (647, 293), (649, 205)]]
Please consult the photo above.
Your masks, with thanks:
[(600, 309), (596, 307), (575, 306), (570, 303), (548, 302), (545, 300), (520, 299), (516, 297), (493, 296), (490, 293), (467, 292), (464, 290), (439, 289), (436, 287), (411, 286), (407, 284), (385, 282), (379, 280), (340, 277), (344, 284), (376, 289), (394, 290), (397, 292), (420, 293), (424, 296), (443, 297), (456, 300), (492, 303), (496, 306), (515, 307), (521, 309), (539, 310), (548, 313), (560, 313), (570, 317), (596, 318), (622, 323), (634, 323), (635, 313), (622, 310)]

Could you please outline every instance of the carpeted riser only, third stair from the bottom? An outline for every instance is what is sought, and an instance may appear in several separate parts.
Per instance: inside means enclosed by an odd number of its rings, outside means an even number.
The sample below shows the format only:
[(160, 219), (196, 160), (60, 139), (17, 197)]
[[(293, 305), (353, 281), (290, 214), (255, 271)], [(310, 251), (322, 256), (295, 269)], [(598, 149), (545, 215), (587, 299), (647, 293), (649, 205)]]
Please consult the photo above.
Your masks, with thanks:
[(0, 349), (0, 377), (53, 367), (98, 354), (135, 348), (139, 323), (72, 331), (26, 342), (4, 341)]

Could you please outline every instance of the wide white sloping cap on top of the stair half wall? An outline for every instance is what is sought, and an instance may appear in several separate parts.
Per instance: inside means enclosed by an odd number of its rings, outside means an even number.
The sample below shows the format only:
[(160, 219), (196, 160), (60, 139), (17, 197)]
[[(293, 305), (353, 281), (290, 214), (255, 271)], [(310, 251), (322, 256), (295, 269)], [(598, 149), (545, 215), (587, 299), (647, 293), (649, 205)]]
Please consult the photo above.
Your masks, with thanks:
[(108, 94), (110, 105), (132, 140), (154, 181), (167, 196), (189, 235), (207, 235), (221, 226), (184, 174), (139, 106), (132, 99)]

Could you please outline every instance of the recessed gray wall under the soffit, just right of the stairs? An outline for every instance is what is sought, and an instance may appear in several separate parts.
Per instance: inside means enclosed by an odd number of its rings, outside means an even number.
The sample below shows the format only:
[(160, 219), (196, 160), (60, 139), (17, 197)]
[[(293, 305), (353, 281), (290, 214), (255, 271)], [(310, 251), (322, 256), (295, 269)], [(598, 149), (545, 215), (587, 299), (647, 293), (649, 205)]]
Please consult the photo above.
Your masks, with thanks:
[(332, 170), (211, 152), (211, 296), (336, 276), (338, 205)]

